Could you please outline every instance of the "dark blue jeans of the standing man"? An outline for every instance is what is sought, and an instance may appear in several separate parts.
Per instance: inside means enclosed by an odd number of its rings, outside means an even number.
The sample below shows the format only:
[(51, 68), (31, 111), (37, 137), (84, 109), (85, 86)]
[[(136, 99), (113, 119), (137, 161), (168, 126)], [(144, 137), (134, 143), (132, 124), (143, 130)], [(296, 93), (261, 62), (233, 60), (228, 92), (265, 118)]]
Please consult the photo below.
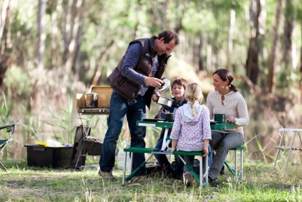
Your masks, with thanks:
[[(123, 128), (125, 117), (130, 130), (130, 146), (145, 148), (146, 128), (136, 126), (137, 121), (141, 121), (146, 116), (145, 100), (138, 96), (131, 103), (120, 94), (113, 92), (110, 99), (110, 113), (108, 118), (108, 131), (103, 141), (103, 151), (100, 156), (100, 170), (110, 172), (115, 165), (115, 150), (118, 137)], [(145, 153), (133, 153), (132, 171), (145, 161)], [(142, 167), (137, 171), (136, 176), (145, 175), (146, 168)]]

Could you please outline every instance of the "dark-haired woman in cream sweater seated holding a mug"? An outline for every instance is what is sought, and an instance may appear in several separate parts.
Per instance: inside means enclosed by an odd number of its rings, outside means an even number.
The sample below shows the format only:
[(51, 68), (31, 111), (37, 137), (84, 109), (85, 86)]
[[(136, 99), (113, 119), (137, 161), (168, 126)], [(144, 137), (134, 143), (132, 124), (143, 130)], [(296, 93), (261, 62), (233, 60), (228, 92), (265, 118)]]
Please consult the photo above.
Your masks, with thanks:
[(213, 74), (213, 86), (207, 96), (207, 107), (211, 119), (215, 113), (223, 113), (227, 122), (234, 123), (235, 128), (224, 131), (212, 131), (212, 141), (209, 142), (213, 150), (217, 150), (209, 171), (209, 184), (218, 186), (217, 176), (224, 165), (227, 153), (236, 146), (244, 143), (242, 126), (249, 123), (249, 113), (246, 102), (236, 86), (231, 84), (234, 77), (227, 69), (218, 69)]

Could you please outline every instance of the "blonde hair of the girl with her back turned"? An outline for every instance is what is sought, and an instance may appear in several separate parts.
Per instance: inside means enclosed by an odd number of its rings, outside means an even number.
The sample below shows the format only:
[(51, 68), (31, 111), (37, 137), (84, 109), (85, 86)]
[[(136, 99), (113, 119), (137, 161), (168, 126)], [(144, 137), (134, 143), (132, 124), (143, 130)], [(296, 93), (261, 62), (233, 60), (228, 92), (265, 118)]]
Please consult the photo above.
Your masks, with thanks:
[(202, 94), (202, 88), (197, 83), (187, 84), (187, 88), (184, 90), (184, 97), (187, 98), (188, 103), (192, 109), (192, 116), (197, 116), (197, 110), (194, 109), (196, 104), (202, 103), (204, 95)]

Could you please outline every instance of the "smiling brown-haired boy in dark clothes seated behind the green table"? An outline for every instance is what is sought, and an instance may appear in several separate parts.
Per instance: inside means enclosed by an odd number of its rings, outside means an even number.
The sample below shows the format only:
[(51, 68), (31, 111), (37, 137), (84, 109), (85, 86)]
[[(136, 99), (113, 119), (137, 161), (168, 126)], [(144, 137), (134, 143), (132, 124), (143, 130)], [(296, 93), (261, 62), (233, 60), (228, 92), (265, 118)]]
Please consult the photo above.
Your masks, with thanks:
[[(184, 99), (184, 89), (186, 89), (187, 81), (185, 79), (175, 79), (172, 82), (172, 95), (174, 96), (172, 106), (162, 106), (160, 111), (157, 113), (155, 118), (161, 118), (162, 113), (170, 112), (173, 113), (176, 111), (179, 106), (182, 106), (184, 103), (187, 103), (187, 100)], [(169, 129), (168, 134), (170, 134), (171, 129)], [(162, 129), (160, 133), (160, 139), (157, 141), (155, 148), (162, 148), (162, 141), (164, 140), (164, 133), (165, 130)], [(175, 166), (172, 168), (171, 163), (168, 161), (167, 156), (163, 154), (155, 154), (155, 158), (157, 159), (158, 163), (162, 167), (165, 176), (171, 176), (173, 178), (180, 179), (182, 178), (182, 166), (183, 163), (180, 159), (175, 159)]]

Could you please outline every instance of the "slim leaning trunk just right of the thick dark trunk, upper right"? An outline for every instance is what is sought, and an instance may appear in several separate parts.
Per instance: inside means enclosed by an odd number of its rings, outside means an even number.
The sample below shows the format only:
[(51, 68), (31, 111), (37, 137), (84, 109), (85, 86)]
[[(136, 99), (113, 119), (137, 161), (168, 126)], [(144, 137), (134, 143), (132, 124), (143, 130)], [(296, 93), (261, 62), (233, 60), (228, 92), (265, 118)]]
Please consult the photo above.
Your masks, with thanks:
[(277, 11), (276, 11), (276, 21), (273, 31), (273, 41), (271, 46), (271, 54), (269, 56), (269, 75), (268, 75), (268, 91), (269, 93), (274, 93), (276, 89), (276, 66), (277, 61), (277, 48), (280, 41), (280, 23), (281, 23), (281, 12), (282, 12), (282, 0), (278, 0)]

